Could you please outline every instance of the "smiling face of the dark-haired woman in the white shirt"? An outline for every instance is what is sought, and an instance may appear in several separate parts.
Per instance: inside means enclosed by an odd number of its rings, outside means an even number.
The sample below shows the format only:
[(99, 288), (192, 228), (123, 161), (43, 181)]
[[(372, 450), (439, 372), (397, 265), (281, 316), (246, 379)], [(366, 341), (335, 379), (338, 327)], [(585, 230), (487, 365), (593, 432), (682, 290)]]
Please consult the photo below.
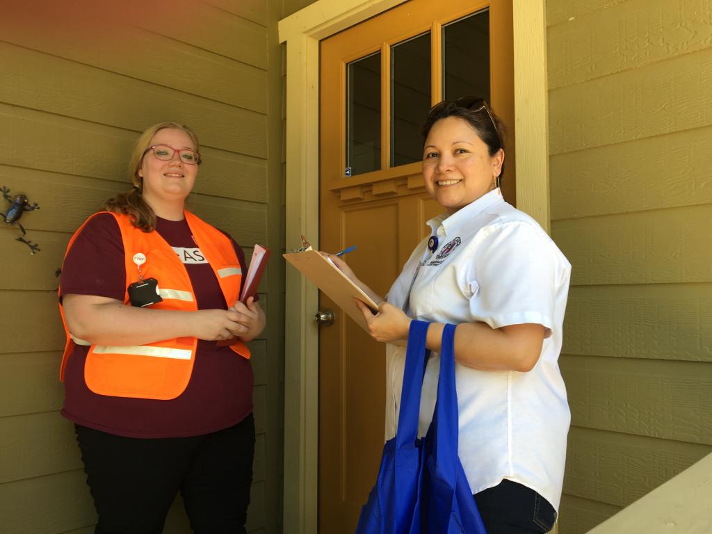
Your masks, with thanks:
[(449, 214), (495, 187), (504, 151), (489, 155), (478, 133), (460, 117), (446, 117), (431, 127), (423, 148), (425, 189)]

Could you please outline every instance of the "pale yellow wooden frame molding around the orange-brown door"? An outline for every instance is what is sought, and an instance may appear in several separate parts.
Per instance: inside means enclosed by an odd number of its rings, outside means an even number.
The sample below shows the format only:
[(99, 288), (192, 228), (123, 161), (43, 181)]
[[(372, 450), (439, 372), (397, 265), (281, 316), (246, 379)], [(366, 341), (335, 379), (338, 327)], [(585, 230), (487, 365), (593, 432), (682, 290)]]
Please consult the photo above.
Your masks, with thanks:
[[(286, 43), (285, 244), (318, 246), (319, 41), (404, 0), (318, 0), (278, 23)], [(517, 206), (550, 226), (545, 0), (512, 0)], [(286, 270), (285, 533), (318, 529), (318, 291)]]

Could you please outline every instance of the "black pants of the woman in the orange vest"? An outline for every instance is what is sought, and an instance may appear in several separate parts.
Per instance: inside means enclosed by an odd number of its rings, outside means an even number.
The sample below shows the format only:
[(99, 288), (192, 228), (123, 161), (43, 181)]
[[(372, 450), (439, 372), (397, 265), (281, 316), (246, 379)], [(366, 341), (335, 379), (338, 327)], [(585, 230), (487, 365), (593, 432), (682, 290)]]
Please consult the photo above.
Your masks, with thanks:
[(99, 515), (95, 534), (161, 534), (180, 491), (197, 534), (244, 533), (255, 423), (187, 438), (140, 439), (75, 425)]

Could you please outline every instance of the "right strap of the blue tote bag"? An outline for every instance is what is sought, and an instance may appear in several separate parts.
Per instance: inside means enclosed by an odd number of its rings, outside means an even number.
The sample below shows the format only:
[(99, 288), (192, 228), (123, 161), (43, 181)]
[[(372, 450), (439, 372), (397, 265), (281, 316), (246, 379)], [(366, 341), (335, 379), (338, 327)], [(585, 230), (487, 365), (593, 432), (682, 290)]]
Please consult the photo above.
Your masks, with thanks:
[(438, 397), (433, 422), (436, 429), (434, 454), (440, 473), (453, 483), (457, 481), (459, 421), (455, 383), (455, 325), (445, 325), (440, 349)]

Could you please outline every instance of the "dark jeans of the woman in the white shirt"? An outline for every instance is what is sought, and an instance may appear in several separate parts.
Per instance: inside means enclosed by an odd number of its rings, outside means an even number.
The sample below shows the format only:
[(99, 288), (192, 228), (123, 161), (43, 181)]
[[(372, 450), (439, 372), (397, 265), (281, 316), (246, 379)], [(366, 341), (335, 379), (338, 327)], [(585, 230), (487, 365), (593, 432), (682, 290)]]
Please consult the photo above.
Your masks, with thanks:
[(475, 493), (487, 534), (542, 534), (556, 521), (553, 506), (536, 491), (509, 480)]

